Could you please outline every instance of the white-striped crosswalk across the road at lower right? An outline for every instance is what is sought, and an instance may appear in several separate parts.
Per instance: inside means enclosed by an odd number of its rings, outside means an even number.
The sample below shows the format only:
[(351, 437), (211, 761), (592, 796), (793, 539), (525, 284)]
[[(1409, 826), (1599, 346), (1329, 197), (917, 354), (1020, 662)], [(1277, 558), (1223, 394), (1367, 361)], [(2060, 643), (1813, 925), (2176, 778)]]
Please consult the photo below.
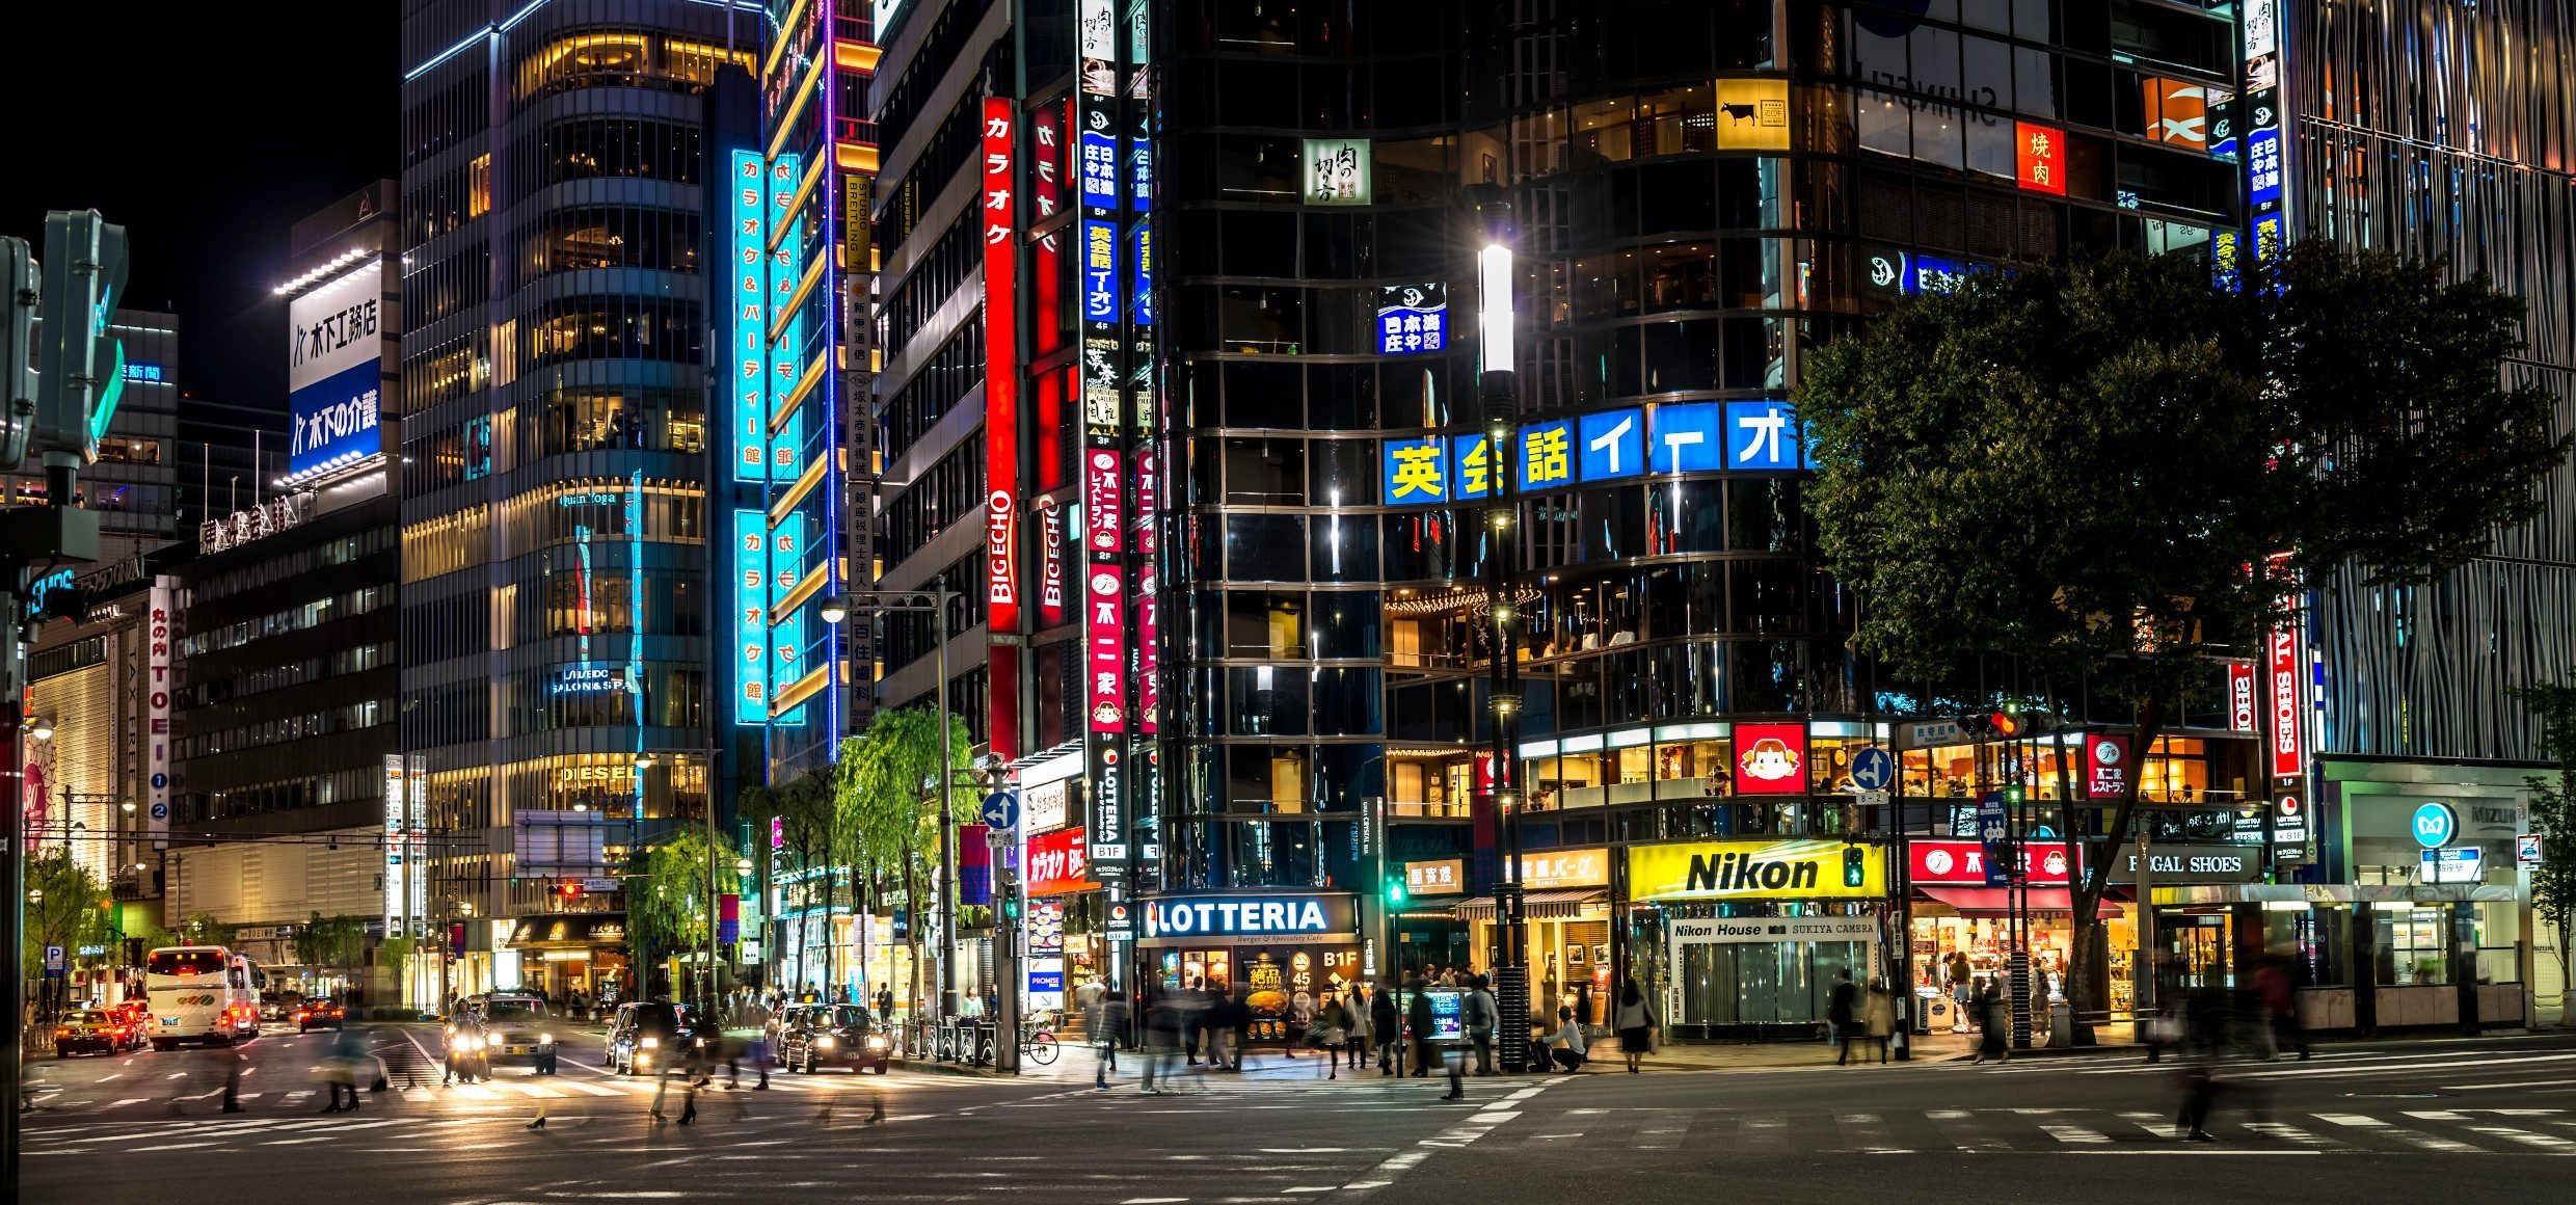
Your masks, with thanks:
[(2571, 1110), (2295, 1112), (2213, 1123), (2215, 1146), (2182, 1146), (2172, 1112), (2084, 1107), (1788, 1112), (1741, 1107), (1569, 1107), (1533, 1117), (1522, 1143), (1582, 1151), (1775, 1154), (2550, 1154), (2576, 1156)]

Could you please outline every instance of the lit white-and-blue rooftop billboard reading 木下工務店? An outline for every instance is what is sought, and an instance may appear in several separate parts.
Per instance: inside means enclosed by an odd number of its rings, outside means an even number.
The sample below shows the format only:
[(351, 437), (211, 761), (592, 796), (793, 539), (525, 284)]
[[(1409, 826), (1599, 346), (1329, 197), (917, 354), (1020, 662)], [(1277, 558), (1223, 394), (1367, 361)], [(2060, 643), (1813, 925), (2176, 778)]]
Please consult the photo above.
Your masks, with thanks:
[(384, 407), (384, 260), (286, 304), (294, 330), (286, 358), (286, 474), (307, 476), (358, 463), (384, 451), (376, 417)]

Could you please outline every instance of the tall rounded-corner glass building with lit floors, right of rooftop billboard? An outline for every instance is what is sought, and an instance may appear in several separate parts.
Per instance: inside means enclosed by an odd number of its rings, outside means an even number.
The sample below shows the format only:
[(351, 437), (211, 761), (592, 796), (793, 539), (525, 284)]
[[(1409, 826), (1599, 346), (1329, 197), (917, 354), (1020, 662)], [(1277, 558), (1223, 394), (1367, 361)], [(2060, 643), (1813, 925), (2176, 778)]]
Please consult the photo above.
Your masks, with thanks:
[[(708, 582), (701, 98), (757, 70), (762, 26), (752, 3), (404, 5), (402, 734), (459, 991), (536, 953), (549, 986), (659, 991), (613, 893), (549, 888), (711, 806), (732, 597)], [(595, 917), (515, 924), (564, 909)]]

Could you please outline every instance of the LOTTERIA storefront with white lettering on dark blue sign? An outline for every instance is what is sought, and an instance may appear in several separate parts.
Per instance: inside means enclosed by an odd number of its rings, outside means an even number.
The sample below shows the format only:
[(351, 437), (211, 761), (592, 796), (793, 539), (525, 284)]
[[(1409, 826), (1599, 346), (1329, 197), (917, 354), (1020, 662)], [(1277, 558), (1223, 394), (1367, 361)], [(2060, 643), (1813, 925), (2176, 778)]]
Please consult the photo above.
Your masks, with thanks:
[(1164, 991), (1206, 986), (1252, 1009), (1252, 1040), (1303, 1032), (1324, 991), (1376, 976), (1360, 901), (1342, 891), (1229, 891), (1144, 901), (1139, 948)]

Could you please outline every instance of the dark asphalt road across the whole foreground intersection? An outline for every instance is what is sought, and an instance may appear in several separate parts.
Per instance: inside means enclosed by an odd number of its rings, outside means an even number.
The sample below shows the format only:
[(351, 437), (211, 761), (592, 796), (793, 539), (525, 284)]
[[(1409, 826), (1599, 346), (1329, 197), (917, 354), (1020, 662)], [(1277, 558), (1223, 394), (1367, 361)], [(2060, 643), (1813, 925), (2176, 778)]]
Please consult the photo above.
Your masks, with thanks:
[[(1211, 1076), (1175, 1094), (896, 1071), (708, 1089), (693, 1125), (654, 1084), (600, 1071), (407, 1084), (415, 1043), (379, 1027), (394, 1089), (319, 1115), (327, 1035), (240, 1051), (247, 1112), (216, 1112), (232, 1053), (39, 1061), (28, 1202), (170, 1200), (994, 1200), (1249, 1205), (1886, 1200), (2063, 1202), (2543, 1200), (2576, 1184), (2576, 1040), (2324, 1045), (2228, 1066), (2218, 1143), (2172, 1133), (2166, 1066), (2136, 1053), (2007, 1066), (1589, 1071), (1468, 1079)], [(1066, 1053), (1066, 1058), (1087, 1058)], [(724, 1076), (719, 1074), (719, 1084)], [(173, 1115), (178, 1097), (183, 1112)], [(546, 1128), (528, 1123), (544, 1105)], [(680, 1089), (665, 1105), (677, 1117)], [(881, 1117), (881, 1120), (878, 1120)], [(2548, 1184), (2555, 1184), (2550, 1190)]]

